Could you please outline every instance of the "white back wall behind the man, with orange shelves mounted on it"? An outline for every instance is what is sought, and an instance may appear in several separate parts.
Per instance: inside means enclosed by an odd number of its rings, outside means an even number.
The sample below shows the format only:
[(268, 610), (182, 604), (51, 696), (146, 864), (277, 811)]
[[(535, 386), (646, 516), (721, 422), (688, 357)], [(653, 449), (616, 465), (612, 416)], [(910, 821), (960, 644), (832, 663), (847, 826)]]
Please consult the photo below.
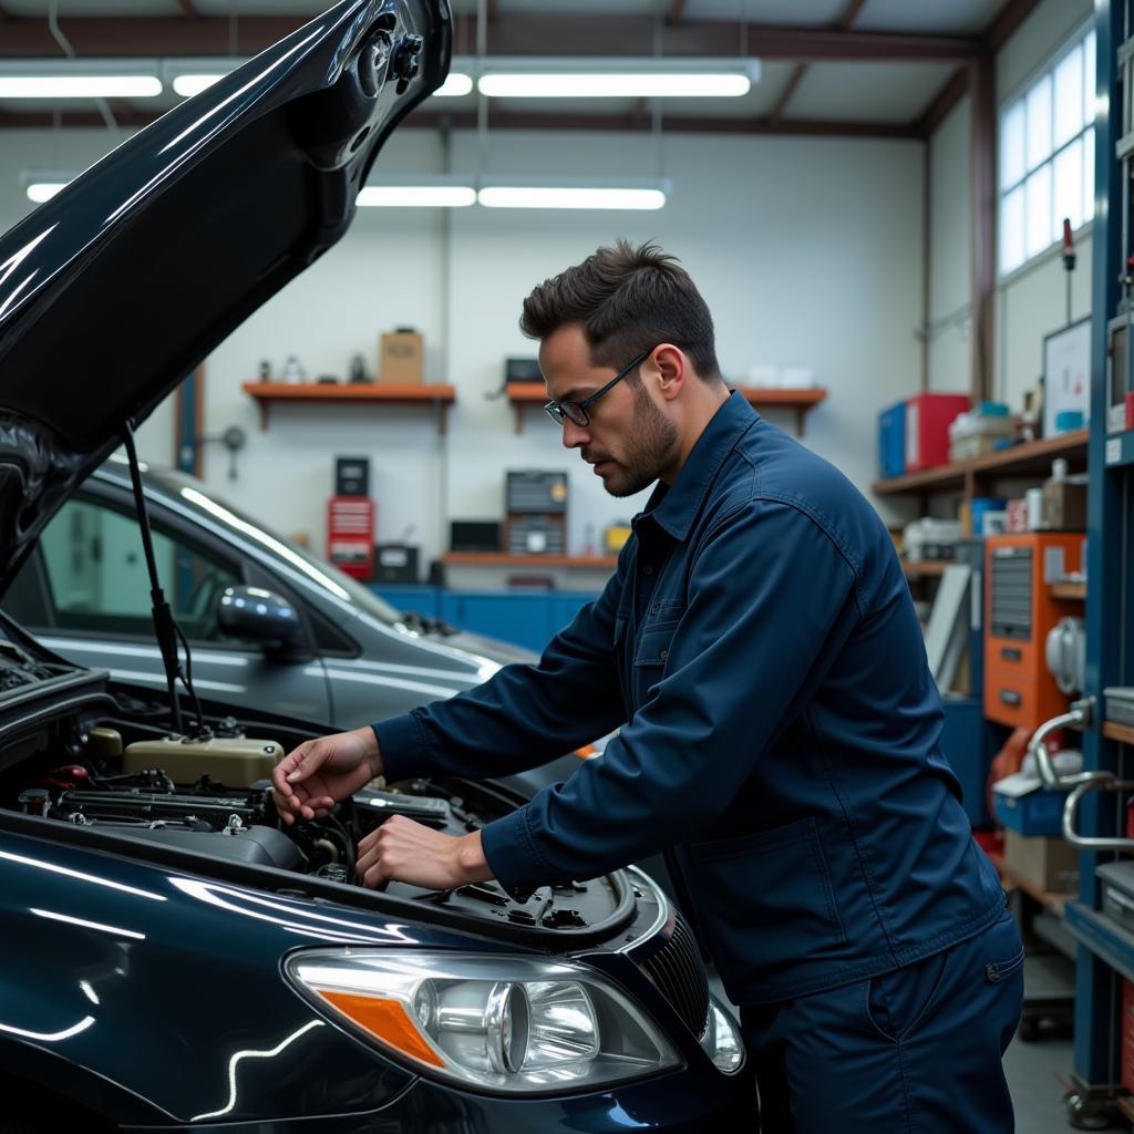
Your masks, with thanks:
[[(77, 168), (104, 138), (0, 135), (0, 223), (26, 211), (19, 168)], [(60, 161), (57, 152), (81, 160)], [(477, 154), (474, 136), (454, 137), (454, 168), (472, 168)], [(528, 174), (658, 170), (654, 145), (640, 136), (501, 134), (490, 138), (484, 161)], [(441, 162), (435, 134), (407, 130), (380, 168), (432, 172)], [(209, 447), (210, 485), (284, 532), (308, 532), (321, 549), (335, 455), (369, 455), (380, 538), (412, 531), (431, 558), (446, 547), (449, 516), (500, 516), (506, 469), (568, 468), (570, 550), (581, 551), (587, 525), (598, 539), (642, 498), (607, 497), (539, 411), (526, 411), (516, 435), (510, 406), (483, 395), (499, 386), (505, 356), (534, 354), (517, 327), (531, 287), (626, 236), (657, 238), (686, 264), (714, 313), (728, 378), (743, 382), (755, 363), (815, 371), (830, 399), (809, 416), (806, 441), (865, 488), (878, 409), (919, 382), (921, 146), (675, 135), (663, 166), (672, 195), (655, 213), (361, 211), (339, 246), (208, 359), (206, 431), (240, 424), (249, 434), (235, 482), (227, 455)], [(425, 336), (428, 376), (457, 387), (446, 439), (425, 411), (408, 407), (277, 406), (261, 431), (240, 390), (261, 358), (278, 371), (295, 353), (311, 378), (342, 376), (356, 352), (373, 366), (378, 335), (404, 323)], [(171, 415), (160, 417), (142, 448), (168, 463)]]

